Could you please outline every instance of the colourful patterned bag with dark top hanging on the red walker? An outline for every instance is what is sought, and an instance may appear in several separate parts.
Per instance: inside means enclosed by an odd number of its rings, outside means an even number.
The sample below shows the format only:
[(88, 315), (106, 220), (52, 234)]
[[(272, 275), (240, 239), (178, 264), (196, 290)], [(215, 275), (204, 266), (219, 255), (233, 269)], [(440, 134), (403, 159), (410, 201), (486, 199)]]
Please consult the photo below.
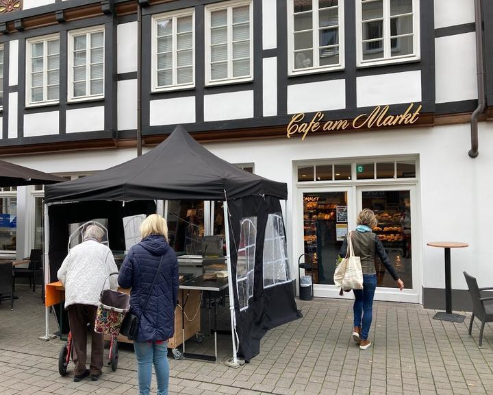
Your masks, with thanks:
[(129, 295), (112, 289), (105, 289), (99, 297), (94, 332), (118, 336), (123, 318), (129, 309)]

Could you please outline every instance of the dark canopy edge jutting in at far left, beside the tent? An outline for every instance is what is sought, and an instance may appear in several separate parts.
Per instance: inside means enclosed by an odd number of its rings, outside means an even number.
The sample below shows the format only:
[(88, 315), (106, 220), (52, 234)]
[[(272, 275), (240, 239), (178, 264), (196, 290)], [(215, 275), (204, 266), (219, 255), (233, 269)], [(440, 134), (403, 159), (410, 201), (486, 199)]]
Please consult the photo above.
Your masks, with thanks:
[(18, 185), (52, 184), (63, 182), (64, 178), (53, 176), (53, 174), (29, 169), (14, 163), (0, 160), (0, 187), (16, 187)]

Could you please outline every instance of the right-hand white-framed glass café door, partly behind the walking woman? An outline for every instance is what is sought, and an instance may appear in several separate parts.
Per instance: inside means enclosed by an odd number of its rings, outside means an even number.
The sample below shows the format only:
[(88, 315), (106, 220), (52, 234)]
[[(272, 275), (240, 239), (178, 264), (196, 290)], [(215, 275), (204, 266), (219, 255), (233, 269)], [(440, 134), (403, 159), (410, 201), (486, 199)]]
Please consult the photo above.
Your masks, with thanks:
[(357, 187), (358, 212), (370, 208), (375, 212), (378, 224), (373, 231), (385, 247), (390, 262), (405, 284), (399, 291), (396, 281), (385, 270), (379, 259), (375, 259), (377, 292), (379, 300), (420, 302), (420, 241), (416, 232), (418, 204), (416, 187)]

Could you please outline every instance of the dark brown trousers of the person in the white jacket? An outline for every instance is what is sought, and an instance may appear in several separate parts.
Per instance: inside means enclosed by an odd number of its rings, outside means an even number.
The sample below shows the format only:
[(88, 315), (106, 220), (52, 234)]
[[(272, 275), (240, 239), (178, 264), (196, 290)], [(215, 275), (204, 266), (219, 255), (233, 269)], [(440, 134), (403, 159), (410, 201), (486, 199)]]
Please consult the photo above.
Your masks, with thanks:
[(86, 372), (87, 333), (90, 324), (91, 361), (90, 373), (99, 374), (103, 368), (104, 337), (102, 333), (94, 332), (97, 307), (90, 304), (71, 304), (67, 307), (68, 322), (71, 326), (74, 374), (78, 376)]

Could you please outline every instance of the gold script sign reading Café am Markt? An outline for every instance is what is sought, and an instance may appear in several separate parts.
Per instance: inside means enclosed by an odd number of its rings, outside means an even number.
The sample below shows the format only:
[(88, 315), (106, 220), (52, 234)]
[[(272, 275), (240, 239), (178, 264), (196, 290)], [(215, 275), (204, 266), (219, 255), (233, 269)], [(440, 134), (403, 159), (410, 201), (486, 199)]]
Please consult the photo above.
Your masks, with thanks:
[(305, 114), (295, 114), (292, 116), (290, 123), (288, 123), (287, 133), (288, 139), (293, 134), (303, 133), (301, 140), (305, 140), (308, 132), (316, 132), (317, 130), (334, 131), (334, 130), (346, 130), (350, 126), (353, 129), (360, 128), (381, 128), (382, 126), (395, 126), (395, 125), (412, 125), (419, 119), (419, 112), (422, 106), (419, 105), (414, 109), (414, 103), (409, 104), (407, 110), (399, 115), (387, 115), (389, 106), (377, 106), (370, 114), (358, 115), (355, 119), (346, 120), (338, 119), (335, 121), (323, 122), (323, 113), (317, 112), (314, 117), (308, 121), (303, 122)]

